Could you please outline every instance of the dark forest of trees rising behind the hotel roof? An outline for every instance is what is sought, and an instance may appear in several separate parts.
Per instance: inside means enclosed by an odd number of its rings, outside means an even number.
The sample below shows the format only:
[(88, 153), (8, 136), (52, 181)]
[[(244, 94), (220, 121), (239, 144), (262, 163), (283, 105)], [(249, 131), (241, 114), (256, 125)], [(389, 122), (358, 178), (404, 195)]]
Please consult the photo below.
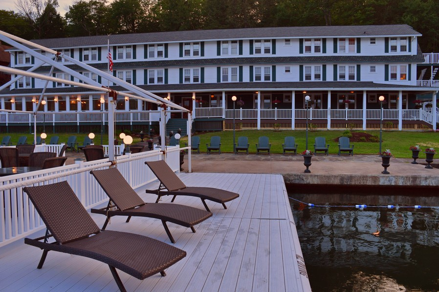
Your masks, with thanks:
[(0, 30), (24, 39), (274, 26), (408, 24), (439, 52), (438, 0), (17, 0)]

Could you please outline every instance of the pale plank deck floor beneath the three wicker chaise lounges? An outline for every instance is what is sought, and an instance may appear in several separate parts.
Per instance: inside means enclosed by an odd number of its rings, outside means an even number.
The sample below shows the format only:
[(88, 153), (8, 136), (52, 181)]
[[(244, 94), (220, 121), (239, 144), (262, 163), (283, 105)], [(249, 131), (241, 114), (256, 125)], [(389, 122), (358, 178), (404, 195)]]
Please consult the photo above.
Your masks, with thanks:
[[(187, 256), (140, 281), (119, 275), (127, 291), (310, 291), (291, 209), (281, 175), (180, 174), (187, 185), (224, 188), (240, 194), (227, 210), (207, 202), (213, 217), (190, 229), (169, 223), (176, 247)], [(156, 182), (148, 188), (154, 188)], [(146, 201), (154, 195), (138, 192)], [(170, 201), (171, 196), (163, 198)], [(203, 208), (193, 197), (176, 203)], [(66, 210), (67, 211), (67, 210)], [(99, 226), (104, 216), (92, 214)], [(113, 217), (107, 229), (148, 235), (170, 243), (160, 220)], [(21, 240), (22, 242), (22, 240)], [(7, 247), (6, 247), (7, 248)], [(0, 291), (118, 291), (106, 264), (85, 257), (49, 252), (36, 269), (41, 251), (19, 244), (0, 250)]]

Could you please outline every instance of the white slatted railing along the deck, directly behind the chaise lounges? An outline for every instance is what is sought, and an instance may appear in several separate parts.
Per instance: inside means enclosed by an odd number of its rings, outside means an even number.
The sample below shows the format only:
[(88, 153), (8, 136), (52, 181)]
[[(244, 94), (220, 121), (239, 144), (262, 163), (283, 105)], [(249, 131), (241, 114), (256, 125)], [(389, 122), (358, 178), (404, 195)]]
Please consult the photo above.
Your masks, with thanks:
[[(40, 146), (39, 148), (47, 147)], [(36, 147), (37, 148), (37, 147)], [(166, 161), (179, 171), (179, 148), (168, 147)], [(162, 159), (158, 150), (116, 157), (116, 167), (133, 189), (155, 180), (145, 161)], [(86, 209), (108, 201), (107, 195), (89, 173), (92, 169), (110, 166), (108, 159), (0, 177), (0, 247), (43, 230), (44, 222), (23, 192), (25, 186), (37, 186), (66, 180)], [(66, 212), (68, 212), (66, 206)]]

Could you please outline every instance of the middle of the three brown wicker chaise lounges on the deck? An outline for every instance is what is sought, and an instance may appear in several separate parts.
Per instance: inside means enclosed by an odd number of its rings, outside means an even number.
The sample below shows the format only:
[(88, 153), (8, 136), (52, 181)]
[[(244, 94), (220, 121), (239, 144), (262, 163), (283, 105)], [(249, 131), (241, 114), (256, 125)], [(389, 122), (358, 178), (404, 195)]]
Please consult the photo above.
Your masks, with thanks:
[[(195, 233), (194, 225), (201, 223), (212, 216), (212, 213), (178, 204), (145, 203), (132, 189), (117, 168), (93, 170), (90, 172), (109, 196), (110, 201), (106, 208), (91, 209), (91, 213), (104, 214), (107, 216), (102, 230), (105, 230), (112, 216), (128, 216), (127, 222), (132, 216), (151, 217), (160, 219), (166, 234), (172, 243), (175, 243), (166, 222), (172, 222), (184, 227), (190, 227)], [(116, 210), (111, 210), (116, 207)]]

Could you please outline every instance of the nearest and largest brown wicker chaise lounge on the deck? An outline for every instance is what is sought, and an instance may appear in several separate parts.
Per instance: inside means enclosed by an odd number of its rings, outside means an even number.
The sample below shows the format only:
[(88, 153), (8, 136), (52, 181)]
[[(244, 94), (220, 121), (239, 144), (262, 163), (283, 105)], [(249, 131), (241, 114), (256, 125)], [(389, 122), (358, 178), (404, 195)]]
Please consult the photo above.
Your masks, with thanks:
[[(25, 187), (24, 192), (47, 227), (45, 236), (24, 239), (44, 250), (38, 269), (49, 251), (81, 255), (108, 264), (120, 291), (126, 291), (116, 269), (140, 280), (156, 273), (165, 276), (166, 268), (186, 256), (185, 251), (147, 236), (99, 230), (66, 181)], [(48, 243), (52, 236), (55, 241)]]

